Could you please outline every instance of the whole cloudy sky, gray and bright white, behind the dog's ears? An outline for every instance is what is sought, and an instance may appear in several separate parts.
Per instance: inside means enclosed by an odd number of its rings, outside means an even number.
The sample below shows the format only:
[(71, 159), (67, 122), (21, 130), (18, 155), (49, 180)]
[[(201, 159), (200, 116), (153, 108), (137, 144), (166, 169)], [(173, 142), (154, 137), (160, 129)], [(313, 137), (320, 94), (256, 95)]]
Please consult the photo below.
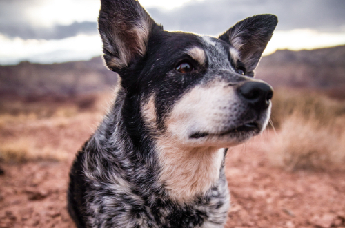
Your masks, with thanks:
[[(166, 30), (217, 36), (239, 20), (273, 13), (276, 49), (345, 44), (344, 0), (139, 0)], [(99, 0), (0, 0), (0, 64), (52, 63), (101, 55)]]

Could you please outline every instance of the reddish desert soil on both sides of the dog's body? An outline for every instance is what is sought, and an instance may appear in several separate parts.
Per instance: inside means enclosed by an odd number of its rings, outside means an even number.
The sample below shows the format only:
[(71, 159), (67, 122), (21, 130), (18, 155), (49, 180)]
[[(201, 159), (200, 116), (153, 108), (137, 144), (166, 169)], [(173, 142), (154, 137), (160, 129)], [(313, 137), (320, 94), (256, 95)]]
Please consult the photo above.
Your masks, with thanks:
[[(75, 227), (66, 209), (68, 171), (79, 146), (101, 120), (83, 113), (2, 124), (0, 141), (28, 137), (66, 156), (58, 161), (0, 163), (0, 227)], [(273, 167), (263, 150), (273, 132), (229, 150), (226, 175), (232, 207), (226, 227), (345, 227), (345, 173)], [(0, 142), (0, 143), (1, 143)]]

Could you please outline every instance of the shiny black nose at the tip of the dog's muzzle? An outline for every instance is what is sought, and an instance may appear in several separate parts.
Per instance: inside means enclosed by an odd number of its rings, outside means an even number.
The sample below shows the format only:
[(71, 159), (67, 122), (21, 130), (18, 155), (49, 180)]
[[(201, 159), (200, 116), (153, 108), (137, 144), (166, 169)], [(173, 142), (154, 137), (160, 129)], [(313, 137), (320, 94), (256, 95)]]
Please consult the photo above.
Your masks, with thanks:
[(264, 82), (246, 82), (238, 88), (238, 93), (246, 99), (246, 102), (260, 111), (270, 105), (273, 88)]

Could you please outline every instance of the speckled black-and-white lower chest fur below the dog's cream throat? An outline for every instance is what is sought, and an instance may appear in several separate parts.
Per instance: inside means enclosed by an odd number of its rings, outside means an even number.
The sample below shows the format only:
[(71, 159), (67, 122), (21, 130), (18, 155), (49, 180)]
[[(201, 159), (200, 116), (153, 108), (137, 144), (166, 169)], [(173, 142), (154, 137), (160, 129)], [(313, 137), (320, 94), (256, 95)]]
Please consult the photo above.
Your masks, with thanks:
[[(188, 204), (177, 204), (159, 196), (144, 200), (135, 193), (94, 189), (87, 208), (90, 227), (223, 227), (229, 207), (226, 180), (208, 192), (208, 196)], [(107, 191), (104, 191), (107, 189)], [(90, 196), (89, 195), (89, 196)]]

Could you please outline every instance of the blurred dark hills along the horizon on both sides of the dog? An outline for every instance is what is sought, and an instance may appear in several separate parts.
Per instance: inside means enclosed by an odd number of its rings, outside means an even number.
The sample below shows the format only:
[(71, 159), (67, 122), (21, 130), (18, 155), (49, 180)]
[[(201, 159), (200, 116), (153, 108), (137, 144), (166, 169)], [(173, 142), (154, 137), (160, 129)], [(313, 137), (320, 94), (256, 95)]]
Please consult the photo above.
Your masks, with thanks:
[[(345, 46), (317, 50), (277, 50), (262, 58), (257, 78), (273, 86), (344, 88)], [(63, 64), (0, 66), (0, 95), (71, 96), (102, 91), (117, 83), (117, 74), (101, 57)]]

